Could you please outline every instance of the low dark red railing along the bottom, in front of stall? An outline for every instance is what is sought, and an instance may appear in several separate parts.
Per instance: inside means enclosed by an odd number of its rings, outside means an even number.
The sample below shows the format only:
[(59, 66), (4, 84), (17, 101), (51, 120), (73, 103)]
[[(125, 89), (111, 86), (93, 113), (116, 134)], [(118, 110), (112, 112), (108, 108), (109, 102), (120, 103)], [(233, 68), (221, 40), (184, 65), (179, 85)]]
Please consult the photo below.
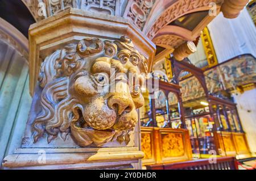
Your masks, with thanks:
[(238, 170), (237, 159), (234, 157), (216, 158), (216, 163), (209, 159), (164, 163), (161, 165), (147, 165), (147, 170)]

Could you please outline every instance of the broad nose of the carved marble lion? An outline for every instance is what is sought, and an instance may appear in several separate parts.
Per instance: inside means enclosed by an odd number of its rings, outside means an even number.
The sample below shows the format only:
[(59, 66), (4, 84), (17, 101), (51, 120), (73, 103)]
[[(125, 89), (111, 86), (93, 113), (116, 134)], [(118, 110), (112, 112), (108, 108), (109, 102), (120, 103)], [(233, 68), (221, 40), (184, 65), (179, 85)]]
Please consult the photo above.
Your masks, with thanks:
[(113, 110), (117, 110), (118, 115), (123, 112), (131, 112), (133, 110), (133, 100), (125, 96), (112, 96), (108, 100), (108, 106)]

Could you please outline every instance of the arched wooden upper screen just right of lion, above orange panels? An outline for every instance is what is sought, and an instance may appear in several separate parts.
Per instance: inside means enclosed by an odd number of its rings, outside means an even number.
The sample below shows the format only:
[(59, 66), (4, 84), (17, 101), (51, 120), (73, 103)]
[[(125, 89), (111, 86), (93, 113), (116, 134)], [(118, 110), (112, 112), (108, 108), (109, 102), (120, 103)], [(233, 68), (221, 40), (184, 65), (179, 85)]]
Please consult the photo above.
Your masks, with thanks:
[(185, 128), (179, 86), (159, 80), (159, 90), (144, 96), (147, 97), (141, 116), (143, 127)]

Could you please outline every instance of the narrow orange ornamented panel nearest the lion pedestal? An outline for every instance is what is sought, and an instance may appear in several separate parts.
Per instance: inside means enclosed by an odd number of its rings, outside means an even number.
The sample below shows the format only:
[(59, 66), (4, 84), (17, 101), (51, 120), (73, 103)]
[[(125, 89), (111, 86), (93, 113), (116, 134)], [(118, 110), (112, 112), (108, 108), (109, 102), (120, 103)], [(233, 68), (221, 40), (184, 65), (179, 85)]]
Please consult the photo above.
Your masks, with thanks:
[(151, 141), (150, 133), (141, 134), (141, 149), (145, 154), (144, 159), (152, 158)]

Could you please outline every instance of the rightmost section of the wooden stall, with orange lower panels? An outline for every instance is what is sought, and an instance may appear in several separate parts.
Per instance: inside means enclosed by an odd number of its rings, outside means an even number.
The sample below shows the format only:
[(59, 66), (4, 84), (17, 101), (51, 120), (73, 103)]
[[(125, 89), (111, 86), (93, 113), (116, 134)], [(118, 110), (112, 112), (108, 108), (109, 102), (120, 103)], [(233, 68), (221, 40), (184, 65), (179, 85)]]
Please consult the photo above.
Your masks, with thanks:
[(217, 131), (214, 132), (214, 141), (218, 153), (228, 156), (238, 155), (238, 157), (250, 155), (236, 104), (211, 95), (209, 99), (213, 108), (213, 117), (217, 123)]

